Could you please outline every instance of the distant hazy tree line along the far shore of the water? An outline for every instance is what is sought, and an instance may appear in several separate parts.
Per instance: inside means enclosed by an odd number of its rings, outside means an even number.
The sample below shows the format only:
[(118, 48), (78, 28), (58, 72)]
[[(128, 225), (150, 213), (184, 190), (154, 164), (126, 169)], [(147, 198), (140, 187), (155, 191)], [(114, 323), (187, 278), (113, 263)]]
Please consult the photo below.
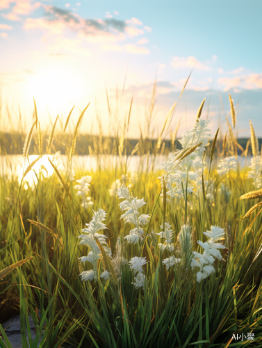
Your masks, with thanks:
[[(0, 154), (1, 155), (22, 155), (24, 148), (24, 141), (26, 136), (19, 133), (3, 133), (0, 132)], [(43, 152), (47, 149), (49, 136), (43, 136)], [(238, 139), (238, 144), (245, 150), (247, 146), (247, 138)], [(259, 149), (261, 149), (262, 139), (258, 139)], [(209, 141), (211, 146), (212, 140)], [(61, 155), (66, 155), (72, 145), (72, 135), (70, 134), (56, 134), (51, 152), (60, 151)], [(218, 148), (222, 150), (222, 141), (218, 141)], [(112, 136), (96, 136), (79, 134), (76, 139), (76, 151), (78, 155), (145, 155), (148, 152), (167, 154), (176, 149), (181, 150), (179, 139), (173, 143), (171, 140), (163, 139), (158, 142), (158, 139), (121, 139), (113, 138)], [(238, 154), (242, 151), (238, 148)], [(38, 154), (38, 135), (34, 134), (31, 141), (29, 155)], [(251, 154), (251, 147), (249, 144), (249, 154)]]

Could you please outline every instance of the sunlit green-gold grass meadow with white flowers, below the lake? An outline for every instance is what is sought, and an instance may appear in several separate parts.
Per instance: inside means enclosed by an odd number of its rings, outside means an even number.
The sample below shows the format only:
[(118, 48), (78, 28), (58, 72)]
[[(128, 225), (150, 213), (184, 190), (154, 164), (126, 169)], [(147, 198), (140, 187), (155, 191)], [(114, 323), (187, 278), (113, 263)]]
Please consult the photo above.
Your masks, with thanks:
[[(113, 143), (118, 163), (96, 171), (72, 167), (88, 106), (66, 142), (64, 168), (58, 118), (43, 142), (35, 104), (24, 174), (0, 177), (0, 347), (11, 347), (2, 325), (17, 313), (23, 347), (38, 347), (40, 337), (49, 348), (261, 347), (261, 153), (251, 121), (246, 148), (238, 143), (229, 100), (226, 134), (211, 134), (203, 101), (178, 149), (174, 104), (145, 148), (152, 108), (147, 133), (127, 152), (130, 106)], [(127, 170), (139, 151), (165, 153), (167, 134), (170, 154), (157, 171)], [(102, 145), (89, 145), (97, 162)], [(240, 168), (239, 150), (252, 155), (249, 167)]]

